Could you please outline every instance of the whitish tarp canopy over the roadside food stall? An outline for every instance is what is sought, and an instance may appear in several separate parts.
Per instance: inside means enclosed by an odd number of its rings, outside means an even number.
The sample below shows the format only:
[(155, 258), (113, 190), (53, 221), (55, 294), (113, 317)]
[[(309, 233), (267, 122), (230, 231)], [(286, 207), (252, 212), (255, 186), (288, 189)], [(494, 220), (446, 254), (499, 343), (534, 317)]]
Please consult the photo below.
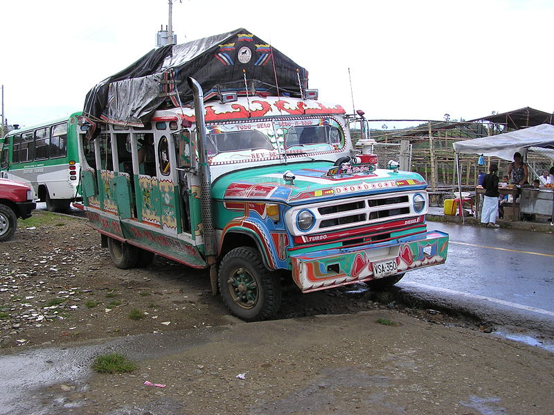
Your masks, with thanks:
[(483, 154), (509, 161), (513, 160), (515, 152), (525, 154), (530, 147), (554, 148), (554, 125), (541, 124), (524, 130), (454, 143), (454, 151), (458, 154)]

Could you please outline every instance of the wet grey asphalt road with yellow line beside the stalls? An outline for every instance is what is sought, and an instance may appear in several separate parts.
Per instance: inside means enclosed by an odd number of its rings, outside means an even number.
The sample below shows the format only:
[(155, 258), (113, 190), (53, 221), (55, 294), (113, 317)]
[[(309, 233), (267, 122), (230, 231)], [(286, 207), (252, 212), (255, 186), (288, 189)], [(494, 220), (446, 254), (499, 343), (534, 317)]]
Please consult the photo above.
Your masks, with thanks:
[(554, 322), (552, 233), (440, 222), (429, 222), (429, 229), (449, 233), (447, 263), (409, 272), (399, 287)]

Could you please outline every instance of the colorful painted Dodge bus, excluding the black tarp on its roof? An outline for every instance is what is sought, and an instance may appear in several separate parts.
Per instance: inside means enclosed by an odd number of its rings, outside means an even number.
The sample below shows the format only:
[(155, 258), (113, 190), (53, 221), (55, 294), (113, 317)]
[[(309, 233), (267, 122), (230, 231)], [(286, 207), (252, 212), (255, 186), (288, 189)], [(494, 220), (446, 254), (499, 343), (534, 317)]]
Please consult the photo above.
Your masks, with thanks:
[[(382, 288), (444, 263), (418, 173), (354, 157), (340, 105), (256, 95), (159, 109), (142, 125), (81, 117), (83, 209), (117, 267), (154, 254), (210, 270), (246, 321), (302, 292), (365, 281)], [(148, 154), (151, 154), (150, 157)]]

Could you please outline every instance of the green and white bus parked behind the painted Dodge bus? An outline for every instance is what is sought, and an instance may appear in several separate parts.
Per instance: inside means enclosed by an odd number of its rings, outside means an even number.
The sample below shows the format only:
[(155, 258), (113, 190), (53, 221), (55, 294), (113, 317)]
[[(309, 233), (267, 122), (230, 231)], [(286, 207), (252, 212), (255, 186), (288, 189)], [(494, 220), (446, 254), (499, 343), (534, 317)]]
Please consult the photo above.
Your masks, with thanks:
[(28, 184), (48, 211), (64, 212), (81, 200), (77, 117), (80, 112), (23, 127), (0, 138), (0, 177)]

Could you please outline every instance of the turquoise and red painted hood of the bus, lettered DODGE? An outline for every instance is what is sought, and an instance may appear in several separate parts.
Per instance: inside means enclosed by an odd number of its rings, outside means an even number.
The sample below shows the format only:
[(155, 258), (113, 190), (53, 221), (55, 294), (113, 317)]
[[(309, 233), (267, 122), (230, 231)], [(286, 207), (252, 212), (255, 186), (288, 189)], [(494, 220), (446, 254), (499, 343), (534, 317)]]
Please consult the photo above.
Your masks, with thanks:
[[(422, 190), (427, 183), (418, 173), (377, 169), (373, 173), (330, 177), (328, 161), (249, 168), (228, 173), (213, 183), (216, 200), (262, 200), (303, 204), (391, 191)], [(294, 182), (285, 182), (290, 171)]]

